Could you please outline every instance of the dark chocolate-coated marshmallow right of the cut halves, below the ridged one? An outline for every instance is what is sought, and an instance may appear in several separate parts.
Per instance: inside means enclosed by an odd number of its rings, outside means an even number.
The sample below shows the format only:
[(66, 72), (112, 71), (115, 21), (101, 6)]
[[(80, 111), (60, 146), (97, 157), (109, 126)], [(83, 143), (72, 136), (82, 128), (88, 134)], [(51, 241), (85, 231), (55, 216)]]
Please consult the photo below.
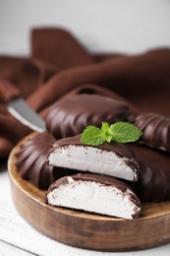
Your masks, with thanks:
[(170, 154), (146, 146), (129, 145), (140, 163), (140, 177), (132, 186), (142, 201), (170, 200)]

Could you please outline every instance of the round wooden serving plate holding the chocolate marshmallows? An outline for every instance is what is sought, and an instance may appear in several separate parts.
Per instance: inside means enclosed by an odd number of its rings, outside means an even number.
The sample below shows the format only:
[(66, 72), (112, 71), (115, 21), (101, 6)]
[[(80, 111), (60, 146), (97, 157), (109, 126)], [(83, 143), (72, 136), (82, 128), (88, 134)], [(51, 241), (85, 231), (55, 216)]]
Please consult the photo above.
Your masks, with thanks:
[(170, 201), (145, 203), (139, 219), (126, 221), (46, 205), (44, 194), (20, 177), (12, 151), (8, 169), (14, 204), (43, 234), (66, 244), (100, 251), (130, 251), (170, 242)]

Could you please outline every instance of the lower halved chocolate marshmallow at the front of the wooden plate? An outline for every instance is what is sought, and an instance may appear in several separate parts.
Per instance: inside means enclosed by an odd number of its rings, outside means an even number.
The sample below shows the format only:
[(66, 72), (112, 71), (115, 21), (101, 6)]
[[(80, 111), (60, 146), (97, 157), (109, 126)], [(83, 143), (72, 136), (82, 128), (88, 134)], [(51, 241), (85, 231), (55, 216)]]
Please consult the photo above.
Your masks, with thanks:
[(140, 200), (127, 184), (91, 173), (58, 179), (49, 187), (46, 203), (128, 220), (141, 211)]

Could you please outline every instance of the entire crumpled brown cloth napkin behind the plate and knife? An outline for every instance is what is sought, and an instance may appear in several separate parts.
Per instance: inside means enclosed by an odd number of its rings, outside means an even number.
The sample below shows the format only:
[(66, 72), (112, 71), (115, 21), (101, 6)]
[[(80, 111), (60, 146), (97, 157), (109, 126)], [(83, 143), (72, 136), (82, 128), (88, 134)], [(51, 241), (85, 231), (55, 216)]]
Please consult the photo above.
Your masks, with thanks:
[[(168, 48), (133, 56), (92, 55), (70, 32), (34, 29), (30, 56), (0, 56), (0, 76), (16, 85), (43, 118), (58, 98), (85, 84), (123, 96), (142, 111), (170, 116)], [(30, 131), (0, 101), (0, 158), (8, 157), (14, 145)]]

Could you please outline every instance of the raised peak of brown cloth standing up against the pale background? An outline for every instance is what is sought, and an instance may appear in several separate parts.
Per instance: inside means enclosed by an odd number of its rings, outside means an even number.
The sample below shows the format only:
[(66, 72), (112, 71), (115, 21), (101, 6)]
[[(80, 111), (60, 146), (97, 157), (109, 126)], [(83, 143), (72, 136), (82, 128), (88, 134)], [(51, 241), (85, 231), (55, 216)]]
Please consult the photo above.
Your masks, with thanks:
[(94, 62), (78, 40), (61, 29), (34, 29), (31, 33), (31, 55), (54, 65), (57, 70)]

